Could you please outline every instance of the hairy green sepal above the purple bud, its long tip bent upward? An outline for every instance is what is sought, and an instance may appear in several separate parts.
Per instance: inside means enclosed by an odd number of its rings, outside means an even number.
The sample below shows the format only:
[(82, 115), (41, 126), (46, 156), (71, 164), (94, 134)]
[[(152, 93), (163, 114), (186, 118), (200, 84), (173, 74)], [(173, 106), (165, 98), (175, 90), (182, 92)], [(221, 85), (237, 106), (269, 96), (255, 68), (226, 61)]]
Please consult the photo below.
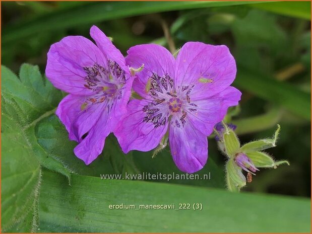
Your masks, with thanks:
[(280, 129), (281, 129), (281, 127), (278, 124), (277, 129), (276, 129), (272, 139), (270, 139), (270, 138), (261, 139), (261, 140), (256, 140), (256, 141), (246, 143), (240, 147), (240, 150), (244, 153), (248, 153), (248, 152), (261, 151), (261, 150), (264, 150), (267, 148), (275, 147)]

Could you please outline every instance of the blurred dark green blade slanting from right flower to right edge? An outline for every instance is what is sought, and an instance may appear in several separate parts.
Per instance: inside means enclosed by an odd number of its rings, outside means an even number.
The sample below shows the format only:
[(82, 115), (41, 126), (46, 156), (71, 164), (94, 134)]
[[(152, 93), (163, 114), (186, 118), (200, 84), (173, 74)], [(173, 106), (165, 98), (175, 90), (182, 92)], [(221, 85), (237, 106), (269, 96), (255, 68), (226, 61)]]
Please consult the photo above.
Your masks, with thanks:
[(238, 65), (233, 86), (278, 104), (306, 120), (311, 118), (310, 95), (286, 82), (276, 81), (259, 72)]

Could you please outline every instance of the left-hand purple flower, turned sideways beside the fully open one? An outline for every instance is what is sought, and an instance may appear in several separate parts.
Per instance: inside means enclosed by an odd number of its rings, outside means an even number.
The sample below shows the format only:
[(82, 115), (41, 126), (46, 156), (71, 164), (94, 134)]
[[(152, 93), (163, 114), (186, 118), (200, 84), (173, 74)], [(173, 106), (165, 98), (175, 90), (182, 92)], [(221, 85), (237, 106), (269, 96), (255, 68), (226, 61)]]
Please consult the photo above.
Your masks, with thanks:
[(69, 138), (79, 144), (74, 152), (87, 165), (102, 152), (106, 136), (127, 112), (133, 78), (124, 57), (96, 26), (90, 29), (96, 45), (82, 36), (69, 36), (48, 52), (46, 76), (69, 93), (56, 115)]

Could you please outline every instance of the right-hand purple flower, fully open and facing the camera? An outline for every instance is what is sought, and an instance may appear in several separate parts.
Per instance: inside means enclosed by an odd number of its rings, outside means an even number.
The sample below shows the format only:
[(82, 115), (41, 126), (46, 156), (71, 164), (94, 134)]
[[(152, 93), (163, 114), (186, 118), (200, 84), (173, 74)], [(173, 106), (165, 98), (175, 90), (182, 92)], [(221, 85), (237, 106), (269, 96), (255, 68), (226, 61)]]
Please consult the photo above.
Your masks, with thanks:
[(175, 59), (159, 45), (129, 49), (126, 62), (137, 68), (133, 89), (143, 98), (128, 104), (128, 113), (115, 132), (124, 152), (149, 151), (169, 134), (176, 166), (194, 173), (208, 159), (207, 136), (238, 104), (241, 93), (230, 87), (235, 60), (224, 45), (188, 42)]

